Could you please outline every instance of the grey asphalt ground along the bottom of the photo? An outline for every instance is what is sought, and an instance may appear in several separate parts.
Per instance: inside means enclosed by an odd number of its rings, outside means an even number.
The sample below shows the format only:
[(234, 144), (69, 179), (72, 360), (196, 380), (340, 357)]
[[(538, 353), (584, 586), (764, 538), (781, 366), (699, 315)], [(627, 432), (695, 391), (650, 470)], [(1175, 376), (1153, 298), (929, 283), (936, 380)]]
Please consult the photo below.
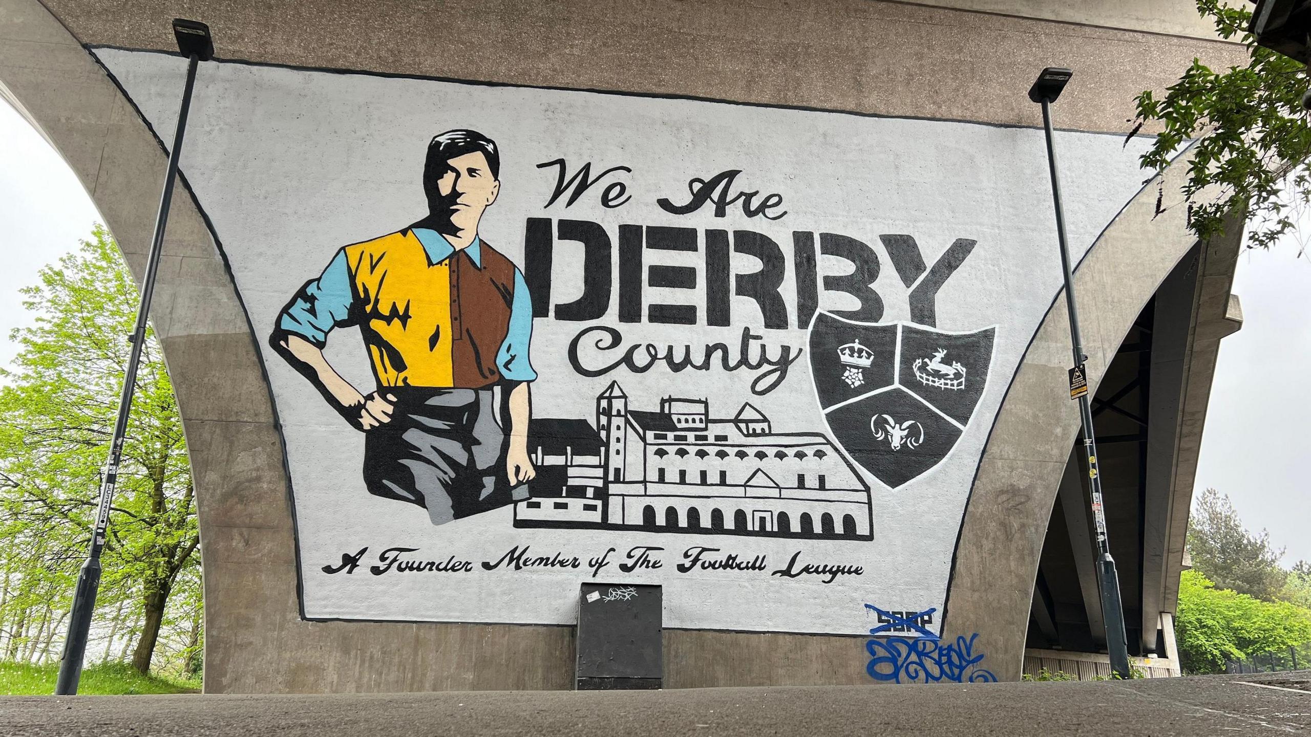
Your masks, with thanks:
[(1311, 671), (1131, 682), (4, 696), (3, 736), (1303, 734)]

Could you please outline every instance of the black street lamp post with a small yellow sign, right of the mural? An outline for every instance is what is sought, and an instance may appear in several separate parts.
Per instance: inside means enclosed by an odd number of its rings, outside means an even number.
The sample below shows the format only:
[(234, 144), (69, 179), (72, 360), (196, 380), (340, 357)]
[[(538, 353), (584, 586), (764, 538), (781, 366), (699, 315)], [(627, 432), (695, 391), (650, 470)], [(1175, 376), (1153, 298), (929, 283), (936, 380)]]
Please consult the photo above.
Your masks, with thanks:
[[(1051, 102), (1061, 97), (1067, 81), (1074, 75), (1070, 70), (1047, 67), (1029, 89), (1029, 100), (1042, 105), (1042, 129), (1047, 139), (1047, 168), (1051, 172), (1051, 199), (1057, 210), (1057, 240), (1061, 243), (1061, 270), (1065, 275), (1066, 309), (1070, 313), (1070, 342), (1074, 348), (1074, 370), (1071, 370), (1071, 395), (1075, 395), (1075, 376), (1086, 382), (1083, 338), (1079, 336), (1079, 311), (1074, 299), (1074, 278), (1070, 268), (1070, 245), (1066, 243), (1065, 210), (1061, 205), (1061, 178), (1057, 174), (1057, 149), (1051, 135)], [(1106, 623), (1106, 653), (1110, 667), (1121, 678), (1129, 678), (1129, 647), (1125, 637), (1125, 611), (1120, 602), (1120, 574), (1116, 561), (1110, 557), (1110, 544), (1106, 542), (1106, 514), (1103, 511), (1101, 475), (1097, 472), (1097, 441), (1092, 430), (1092, 409), (1088, 405), (1087, 386), (1078, 393), (1079, 418), (1083, 424), (1083, 450), (1088, 459), (1088, 480), (1092, 487), (1092, 519), (1097, 528), (1097, 582), (1101, 588), (1101, 616)]]

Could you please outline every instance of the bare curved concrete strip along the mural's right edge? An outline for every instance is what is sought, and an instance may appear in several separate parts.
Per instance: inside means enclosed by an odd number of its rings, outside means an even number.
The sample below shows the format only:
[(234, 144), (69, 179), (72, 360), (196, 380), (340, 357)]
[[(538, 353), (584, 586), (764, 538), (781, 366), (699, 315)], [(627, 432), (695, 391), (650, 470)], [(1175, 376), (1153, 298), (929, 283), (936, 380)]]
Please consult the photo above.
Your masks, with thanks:
[[(1156, 212), (1158, 193), (1177, 193), (1190, 160), (1192, 153), (1185, 152), (1163, 177), (1151, 180), (1106, 226), (1075, 270), (1089, 393), (1096, 392), (1143, 306), (1197, 244), (1181, 203)], [(1227, 319), (1242, 233), (1240, 222), (1230, 223), (1223, 237), (1200, 250), (1194, 309), (1198, 325), (1223, 324)], [(1219, 338), (1232, 329), (1200, 332), (1194, 354), (1210, 350), (1214, 361)], [(1062, 291), (1002, 403), (956, 544), (943, 639), (978, 632), (978, 649), (991, 654), (987, 667), (1002, 681), (1020, 678), (1044, 535), (1079, 434), (1078, 404), (1067, 393), (1070, 362), (1070, 321)], [(1209, 391), (1209, 372), (1205, 384)], [(1201, 405), (1205, 413), (1205, 395)], [(1192, 430), (1196, 447), (1201, 422)]]

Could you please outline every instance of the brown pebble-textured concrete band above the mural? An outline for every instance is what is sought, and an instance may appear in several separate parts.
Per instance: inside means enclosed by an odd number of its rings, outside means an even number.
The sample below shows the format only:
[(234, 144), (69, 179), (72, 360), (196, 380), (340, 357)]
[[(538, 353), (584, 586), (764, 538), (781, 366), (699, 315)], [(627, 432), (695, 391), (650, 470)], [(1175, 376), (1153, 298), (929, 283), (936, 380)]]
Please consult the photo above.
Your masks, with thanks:
[(210, 24), (227, 59), (1028, 126), (1042, 123), (1025, 96), (1038, 70), (1070, 67), (1061, 125), (1116, 132), (1131, 127), (1134, 96), (1173, 84), (1194, 56), (1245, 58), (1232, 43), (1096, 28), (1133, 17), (1177, 33), (1186, 4), (1041, 3), (1061, 7), (1041, 12), (1066, 21), (1053, 22), (869, 0), (46, 0), (85, 43), (174, 50), (168, 18), (181, 16)]

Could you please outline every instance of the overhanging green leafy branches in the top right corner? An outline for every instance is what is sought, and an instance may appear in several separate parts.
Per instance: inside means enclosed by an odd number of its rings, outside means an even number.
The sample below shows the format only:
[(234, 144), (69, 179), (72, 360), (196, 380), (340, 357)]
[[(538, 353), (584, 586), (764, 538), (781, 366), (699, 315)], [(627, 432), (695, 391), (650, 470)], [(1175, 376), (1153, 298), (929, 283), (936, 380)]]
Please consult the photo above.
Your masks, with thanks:
[[(1247, 212), (1248, 245), (1269, 248), (1294, 228), (1293, 214), (1311, 199), (1302, 167), (1311, 155), (1311, 121), (1302, 109), (1307, 70), (1256, 45), (1245, 30), (1249, 8), (1197, 0), (1197, 10), (1215, 22), (1221, 38), (1245, 45), (1248, 63), (1213, 71), (1193, 59), (1164, 97), (1139, 94), (1134, 132), (1148, 123), (1163, 129), (1142, 165), (1159, 173), (1183, 146), (1205, 136), (1184, 185), (1189, 227), (1206, 240), (1223, 232), (1226, 215)], [(1219, 199), (1209, 202), (1201, 194), (1207, 188)]]

